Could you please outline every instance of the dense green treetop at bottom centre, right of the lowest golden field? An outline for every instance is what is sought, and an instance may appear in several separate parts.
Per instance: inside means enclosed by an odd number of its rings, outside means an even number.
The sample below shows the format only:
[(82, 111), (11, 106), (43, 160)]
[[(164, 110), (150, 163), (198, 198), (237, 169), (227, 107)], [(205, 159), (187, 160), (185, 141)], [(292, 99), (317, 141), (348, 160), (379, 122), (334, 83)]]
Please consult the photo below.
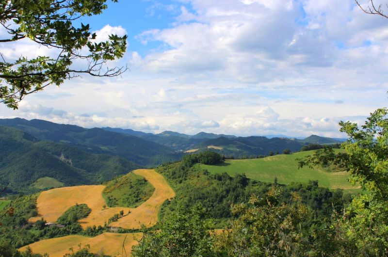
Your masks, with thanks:
[(133, 246), (132, 257), (211, 257), (215, 256), (205, 209), (178, 207), (169, 218), (146, 231), (139, 245)]

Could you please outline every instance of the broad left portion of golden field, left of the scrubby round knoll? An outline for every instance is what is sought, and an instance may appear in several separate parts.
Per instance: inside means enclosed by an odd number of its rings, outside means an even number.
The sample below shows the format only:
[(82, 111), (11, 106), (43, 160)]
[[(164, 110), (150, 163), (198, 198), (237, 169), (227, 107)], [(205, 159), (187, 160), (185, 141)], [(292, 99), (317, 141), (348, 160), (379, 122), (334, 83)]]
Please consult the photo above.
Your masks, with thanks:
[(34, 222), (44, 218), (47, 222), (56, 222), (59, 217), (75, 204), (86, 204), (92, 209), (88, 217), (81, 219), (83, 228), (93, 225), (104, 225), (114, 214), (124, 210), (128, 213), (130, 208), (114, 207), (103, 208), (106, 205), (102, 197), (105, 186), (76, 186), (51, 189), (40, 193), (37, 199), (38, 217), (32, 217)]

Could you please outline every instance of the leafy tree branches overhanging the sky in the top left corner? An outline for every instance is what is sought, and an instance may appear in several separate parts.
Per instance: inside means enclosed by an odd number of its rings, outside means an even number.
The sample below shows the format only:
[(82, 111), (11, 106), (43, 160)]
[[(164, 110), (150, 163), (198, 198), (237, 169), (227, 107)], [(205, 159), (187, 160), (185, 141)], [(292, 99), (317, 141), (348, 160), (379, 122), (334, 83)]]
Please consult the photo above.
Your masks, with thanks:
[[(117, 2), (117, 0), (112, 0)], [(101, 14), (107, 0), (12, 0), (0, 1), (0, 24), (6, 36), (0, 43), (26, 40), (36, 49), (50, 48), (55, 56), (9, 60), (0, 53), (0, 102), (14, 110), (24, 96), (43, 90), (50, 84), (61, 85), (66, 79), (89, 74), (114, 77), (127, 67), (109, 67), (108, 61), (121, 58), (127, 48), (127, 35), (110, 35), (99, 42), (89, 24), (79, 24), (82, 16)], [(74, 25), (76, 23), (77, 25)], [(83, 60), (84, 68), (73, 68)]]

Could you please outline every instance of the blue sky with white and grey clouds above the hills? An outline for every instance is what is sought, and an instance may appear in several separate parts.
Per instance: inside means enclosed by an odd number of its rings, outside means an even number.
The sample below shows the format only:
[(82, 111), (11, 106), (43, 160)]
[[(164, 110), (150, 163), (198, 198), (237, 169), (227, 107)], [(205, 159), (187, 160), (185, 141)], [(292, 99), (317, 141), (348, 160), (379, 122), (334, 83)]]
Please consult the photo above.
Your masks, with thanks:
[[(388, 12), (388, 10), (387, 10)], [(341, 137), (387, 106), (388, 19), (352, 0), (119, 0), (85, 18), (128, 34), (117, 78), (82, 76), (27, 96), (23, 117), (87, 128)], [(1, 32), (0, 32), (1, 34)], [(47, 54), (23, 41), (6, 58)]]

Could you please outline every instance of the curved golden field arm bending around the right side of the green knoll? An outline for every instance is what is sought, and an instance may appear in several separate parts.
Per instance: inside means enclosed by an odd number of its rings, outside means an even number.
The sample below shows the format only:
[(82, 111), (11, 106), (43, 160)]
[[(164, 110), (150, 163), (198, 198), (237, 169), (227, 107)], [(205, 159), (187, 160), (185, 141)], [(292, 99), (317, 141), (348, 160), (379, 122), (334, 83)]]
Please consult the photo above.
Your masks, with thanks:
[(120, 218), (117, 222), (111, 223), (112, 226), (124, 228), (140, 228), (141, 224), (146, 226), (155, 225), (158, 221), (158, 213), (165, 200), (175, 197), (174, 190), (170, 187), (162, 175), (155, 170), (135, 170), (133, 173), (145, 177), (155, 191), (152, 196), (131, 213)]

